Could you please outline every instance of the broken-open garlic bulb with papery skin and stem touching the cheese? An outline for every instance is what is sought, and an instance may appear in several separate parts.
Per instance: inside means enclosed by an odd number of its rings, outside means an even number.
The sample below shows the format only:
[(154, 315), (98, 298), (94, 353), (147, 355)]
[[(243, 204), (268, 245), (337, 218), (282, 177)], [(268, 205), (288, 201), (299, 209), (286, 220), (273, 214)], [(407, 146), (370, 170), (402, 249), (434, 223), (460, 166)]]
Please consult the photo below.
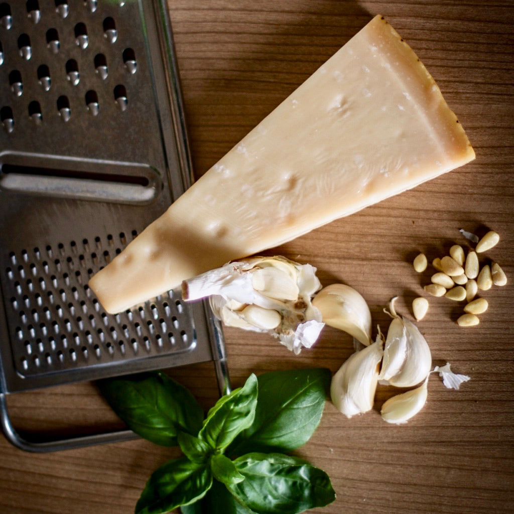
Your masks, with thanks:
[(316, 268), (282, 256), (230, 262), (182, 283), (186, 301), (209, 297), (214, 315), (227, 326), (277, 337), (299, 354), (324, 326), (311, 303), (321, 288)]

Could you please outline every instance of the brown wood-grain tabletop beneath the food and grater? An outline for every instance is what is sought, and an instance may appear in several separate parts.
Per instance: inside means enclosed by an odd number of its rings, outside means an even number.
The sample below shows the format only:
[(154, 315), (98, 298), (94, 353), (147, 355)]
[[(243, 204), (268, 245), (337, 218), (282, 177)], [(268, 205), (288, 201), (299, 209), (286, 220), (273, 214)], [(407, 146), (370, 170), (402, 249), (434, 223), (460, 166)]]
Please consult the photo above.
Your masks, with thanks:
[[(373, 411), (346, 419), (327, 402), (321, 425), (296, 453), (323, 468), (337, 492), (320, 513), (397, 514), (514, 511), (514, 5), (512, 1), (169, 0), (196, 174), (204, 173), (375, 14), (385, 15), (425, 63), (458, 115), (476, 160), (414, 190), (340, 219), (268, 253), (308, 262), (324, 285), (345, 282), (369, 302), (375, 324), (399, 296), (410, 302), (429, 260), (458, 229), (501, 242), (487, 257), (509, 278), (483, 293), (479, 326), (455, 324), (462, 306), (430, 299), (419, 328), (434, 364), (471, 376), (461, 390), (430, 377), (428, 402), (404, 426), (384, 423), (379, 387)], [(413, 149), (415, 150), (415, 149)], [(270, 224), (273, 220), (270, 219)], [(335, 372), (353, 351), (349, 336), (327, 328), (299, 356), (263, 335), (226, 329), (234, 387), (251, 373), (326, 366)], [(170, 371), (207, 409), (216, 399), (209, 364)], [(14, 422), (61, 433), (118, 426), (91, 384), (12, 395)], [(82, 428), (79, 428), (82, 427)], [(0, 440), (2, 514), (126, 514), (150, 473), (178, 455), (144, 440), (30, 454)]]

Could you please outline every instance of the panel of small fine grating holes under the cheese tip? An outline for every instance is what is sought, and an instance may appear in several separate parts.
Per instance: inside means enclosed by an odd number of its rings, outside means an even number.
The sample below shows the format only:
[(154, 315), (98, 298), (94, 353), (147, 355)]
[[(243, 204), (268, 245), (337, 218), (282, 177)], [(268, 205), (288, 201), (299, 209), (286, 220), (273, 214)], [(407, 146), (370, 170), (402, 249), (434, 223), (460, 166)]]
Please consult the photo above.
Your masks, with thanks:
[[(135, 236), (137, 231), (131, 234)], [(125, 233), (121, 232), (119, 236), (120, 244), (126, 242)], [(112, 234), (105, 238), (105, 242), (111, 251), (120, 250)], [(95, 245), (99, 250), (102, 249), (100, 237), (95, 238)], [(10, 261), (14, 265), (17, 262), (27, 263), (26, 267), (19, 264), (15, 268), (8, 266), (5, 269), (12, 288), (10, 304), (13, 309), (19, 311), (21, 321), (21, 324), (14, 328), (15, 339), (23, 342), (17, 352), (17, 369), (20, 372), (45, 373), (67, 365), (86, 365), (91, 356), (100, 361), (121, 356), (135, 358), (176, 346), (174, 329), (180, 327), (179, 318), (182, 313), (179, 309), (173, 312), (171, 305), (181, 306), (180, 301), (174, 300), (169, 293), (168, 298), (157, 299), (145, 307), (139, 306), (134, 311), (126, 311), (116, 316), (107, 315), (101, 311), (98, 300), (91, 298), (87, 284), (79, 283), (79, 279), (82, 278), (80, 270), (74, 272), (77, 260), (83, 262), (84, 266), (87, 265), (85, 262), (88, 261), (88, 249), (88, 240), (82, 240), (82, 248), (79, 248), (75, 241), (68, 245), (60, 242), (57, 245), (57, 252), (61, 259), (54, 259), (53, 265), (47, 260), (55, 254), (50, 245), (45, 247), (45, 255), (42, 255), (39, 248), (34, 248), (31, 255), (27, 250), (22, 250), (21, 259), (17, 258), (20, 254), (10, 252)], [(100, 254), (91, 252), (90, 258), (95, 258), (97, 267), (102, 267), (110, 255), (108, 250), (104, 250)], [(58, 279), (58, 274), (54, 270), (59, 267), (66, 271), (63, 271)], [(20, 279), (22, 276), (26, 277), (26, 269), (31, 270), (31, 278), (22, 283), (23, 280)], [(93, 272), (93, 269), (88, 268), (89, 271)], [(31, 295), (23, 294), (25, 287)], [(45, 288), (49, 290), (44, 296), (42, 292), (45, 292)], [(56, 298), (59, 298), (58, 302), (54, 302)], [(44, 303), (46, 305), (43, 305)], [(20, 310), (21, 305), (27, 306), (29, 316), (27, 311)], [(85, 319), (82, 315), (77, 316), (79, 311), (86, 316)], [(182, 343), (188, 343), (186, 331), (177, 331), (178, 334)], [(117, 340), (118, 336), (123, 339)], [(35, 341), (35, 346), (30, 341)], [(70, 350), (74, 351), (65, 352), (70, 344)], [(190, 346), (183, 344), (182, 348), (186, 350)], [(33, 358), (29, 359), (29, 355)]]

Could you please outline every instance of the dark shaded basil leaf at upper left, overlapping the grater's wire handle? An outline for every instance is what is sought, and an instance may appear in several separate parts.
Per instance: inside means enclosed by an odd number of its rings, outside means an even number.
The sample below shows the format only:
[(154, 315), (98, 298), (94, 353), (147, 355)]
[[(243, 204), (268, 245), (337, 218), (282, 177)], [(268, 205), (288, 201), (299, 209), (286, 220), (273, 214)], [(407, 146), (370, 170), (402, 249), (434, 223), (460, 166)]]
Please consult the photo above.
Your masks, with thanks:
[(111, 378), (100, 391), (136, 434), (162, 446), (176, 446), (179, 432), (197, 434), (204, 411), (194, 396), (164, 373)]

